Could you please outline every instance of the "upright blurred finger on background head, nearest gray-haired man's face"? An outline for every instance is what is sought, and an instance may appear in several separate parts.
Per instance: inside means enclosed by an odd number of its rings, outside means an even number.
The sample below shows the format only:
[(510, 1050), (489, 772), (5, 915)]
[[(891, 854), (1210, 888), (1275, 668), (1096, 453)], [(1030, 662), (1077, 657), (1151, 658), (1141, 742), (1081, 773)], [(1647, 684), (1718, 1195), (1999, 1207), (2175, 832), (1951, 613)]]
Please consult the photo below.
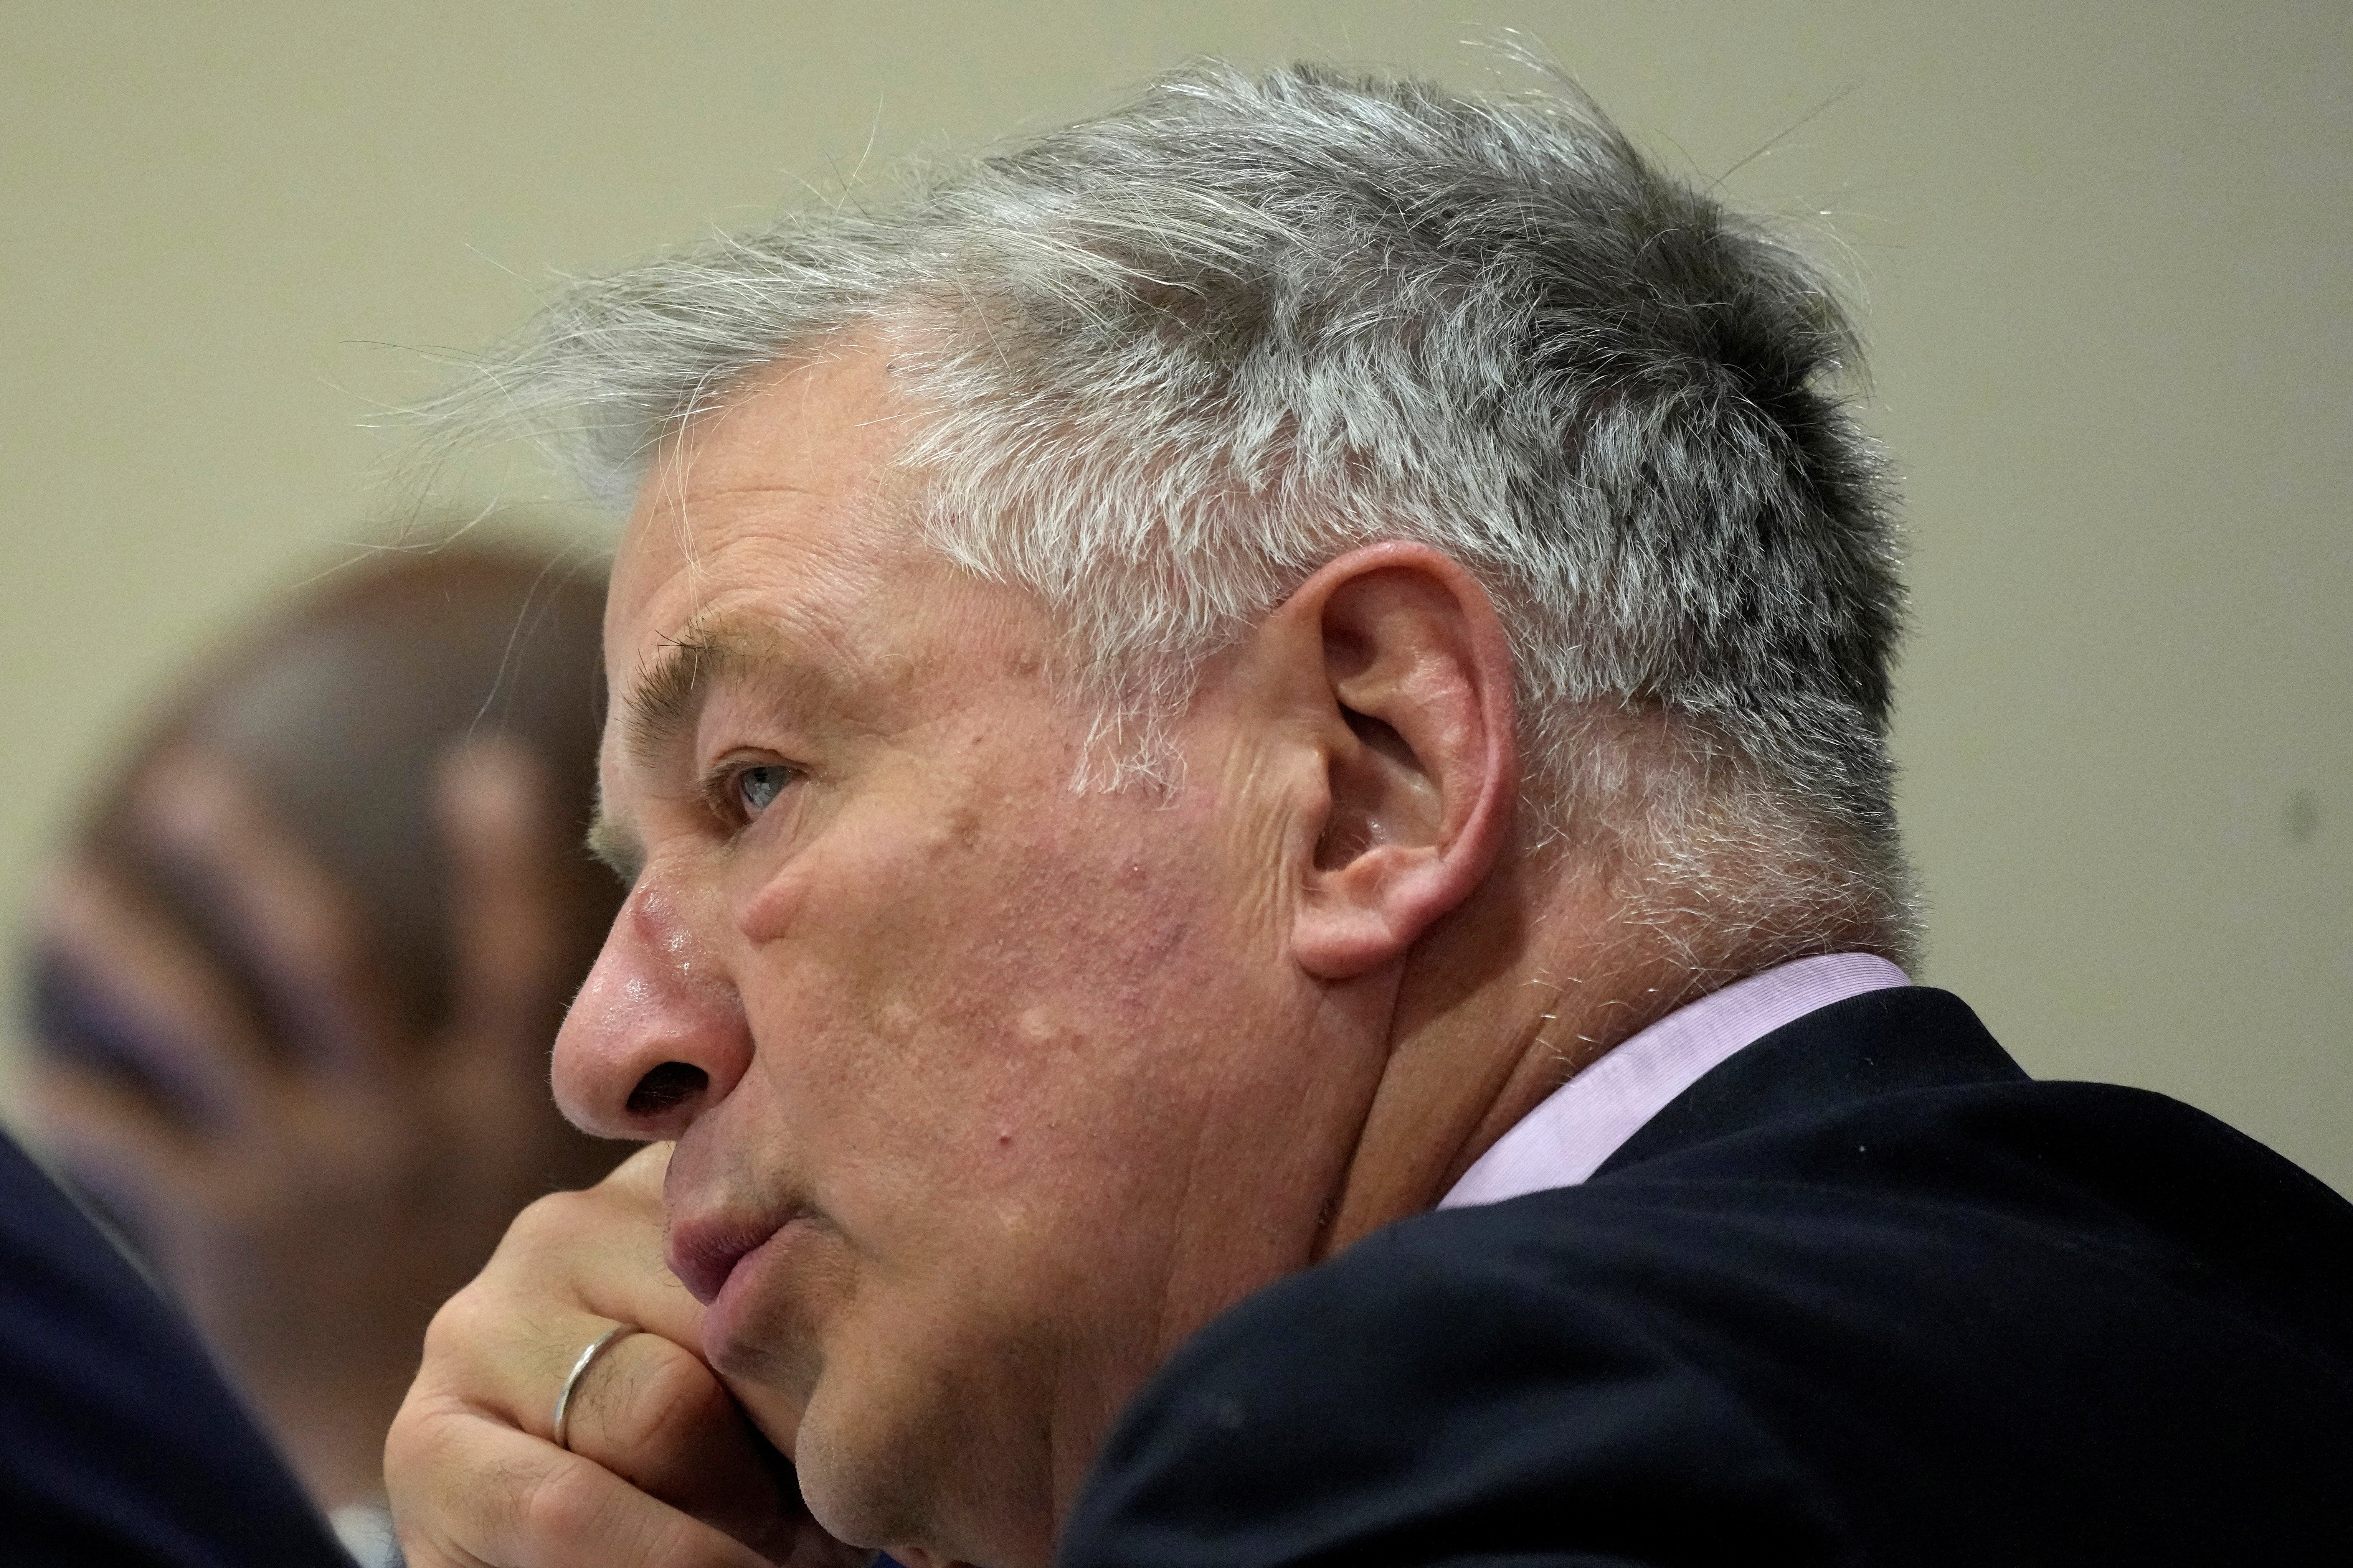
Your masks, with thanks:
[(511, 1041), (544, 1074), (569, 978), (565, 844), (546, 769), (513, 741), (471, 741), (442, 762), (435, 804), (461, 1032)]

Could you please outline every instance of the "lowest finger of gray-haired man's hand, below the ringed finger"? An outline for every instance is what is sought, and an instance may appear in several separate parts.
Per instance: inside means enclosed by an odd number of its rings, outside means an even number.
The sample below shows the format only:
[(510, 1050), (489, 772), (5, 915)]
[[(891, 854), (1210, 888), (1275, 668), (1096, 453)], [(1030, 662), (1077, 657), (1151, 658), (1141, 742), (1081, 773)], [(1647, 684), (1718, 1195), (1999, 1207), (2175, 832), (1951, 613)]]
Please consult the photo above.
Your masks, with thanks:
[(464, 1408), (402, 1408), (384, 1474), (412, 1568), (767, 1568), (593, 1460)]

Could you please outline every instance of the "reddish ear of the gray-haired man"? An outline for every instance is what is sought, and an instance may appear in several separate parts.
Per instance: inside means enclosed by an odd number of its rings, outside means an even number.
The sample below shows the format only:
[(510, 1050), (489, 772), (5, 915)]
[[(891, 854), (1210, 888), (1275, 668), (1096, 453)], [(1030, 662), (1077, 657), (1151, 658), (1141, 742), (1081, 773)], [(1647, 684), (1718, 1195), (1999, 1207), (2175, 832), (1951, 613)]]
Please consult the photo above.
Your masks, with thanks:
[(1518, 797), (1511, 646), (1478, 578), (1428, 545), (1351, 550), (1266, 623), (1320, 788), (1292, 835), (1299, 966), (1402, 957), (1494, 870)]

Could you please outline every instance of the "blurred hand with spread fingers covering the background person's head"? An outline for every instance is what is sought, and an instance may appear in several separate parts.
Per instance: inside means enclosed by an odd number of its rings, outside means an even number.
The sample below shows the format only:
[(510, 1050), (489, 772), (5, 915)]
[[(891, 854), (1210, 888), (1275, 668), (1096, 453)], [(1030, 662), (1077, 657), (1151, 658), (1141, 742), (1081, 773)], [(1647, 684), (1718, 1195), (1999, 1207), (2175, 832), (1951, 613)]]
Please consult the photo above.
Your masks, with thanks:
[(224, 914), (242, 985), (104, 846), (38, 912), (49, 976), (125, 1067), (52, 1051), (31, 1084), (45, 1143), (148, 1248), (325, 1507), (381, 1490), (433, 1305), (525, 1201), (614, 1159), (548, 1095), (579, 964), (548, 795), (506, 743), (445, 766), (456, 994), (435, 1039), (400, 1023), (346, 891), (202, 755), (151, 764), (129, 837)]

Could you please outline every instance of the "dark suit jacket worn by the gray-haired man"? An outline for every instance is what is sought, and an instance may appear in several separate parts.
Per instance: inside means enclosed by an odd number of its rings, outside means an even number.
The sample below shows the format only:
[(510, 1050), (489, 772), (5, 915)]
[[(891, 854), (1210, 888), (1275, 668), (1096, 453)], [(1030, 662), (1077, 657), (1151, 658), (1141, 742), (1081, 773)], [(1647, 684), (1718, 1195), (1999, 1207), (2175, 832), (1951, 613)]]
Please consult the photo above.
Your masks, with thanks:
[(1854, 997), (1217, 1319), (1061, 1563), (2353, 1563), (2353, 1206)]

